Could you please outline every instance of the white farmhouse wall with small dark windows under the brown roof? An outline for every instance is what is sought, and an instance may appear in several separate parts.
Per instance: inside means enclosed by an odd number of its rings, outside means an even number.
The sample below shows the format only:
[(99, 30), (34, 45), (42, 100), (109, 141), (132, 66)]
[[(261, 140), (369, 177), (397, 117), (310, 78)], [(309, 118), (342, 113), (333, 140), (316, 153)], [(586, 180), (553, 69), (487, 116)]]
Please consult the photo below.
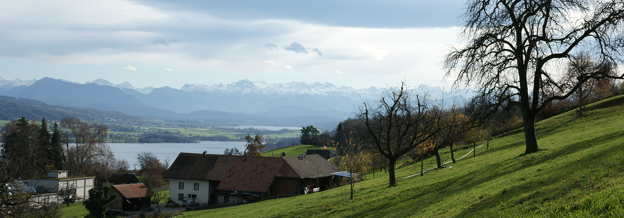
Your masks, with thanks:
[[(179, 182), (184, 182), (184, 189), (179, 188)], [(199, 190), (194, 190), (195, 183), (199, 184)], [(171, 200), (182, 205), (185, 204), (184, 201), (189, 203), (193, 201), (192, 199), (188, 199), (188, 194), (197, 195), (197, 199), (195, 202), (200, 204), (210, 203), (210, 191), (212, 187), (210, 187), (210, 182), (202, 181), (202, 180), (192, 180), (192, 179), (169, 179), (169, 197)], [(182, 201), (178, 200), (178, 194), (182, 194)]]

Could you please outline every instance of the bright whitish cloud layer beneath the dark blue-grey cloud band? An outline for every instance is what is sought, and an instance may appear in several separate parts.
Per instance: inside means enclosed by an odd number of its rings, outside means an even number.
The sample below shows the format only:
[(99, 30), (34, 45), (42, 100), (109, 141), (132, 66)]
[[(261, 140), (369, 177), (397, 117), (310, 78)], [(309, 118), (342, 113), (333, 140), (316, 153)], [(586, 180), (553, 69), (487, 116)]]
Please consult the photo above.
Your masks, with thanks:
[[(288, 19), (220, 19), (203, 12), (160, 9), (127, 0), (3, 3), (3, 67), (8, 62), (9, 68), (18, 69), (21, 62), (17, 60), (26, 60), (33, 65), (67, 69), (31, 70), (22, 75), (24, 78), (66, 78), (76, 74), (73, 69), (85, 72), (102, 69), (102, 65), (112, 69), (119, 63), (132, 63), (149, 67), (129, 80), (142, 86), (181, 87), (188, 83), (187, 78), (200, 77), (196, 83), (249, 78), (334, 82), (356, 88), (384, 87), (406, 77), (412, 83), (436, 86), (442, 81), (439, 63), (446, 53), (444, 48), (457, 41), (457, 27), (388, 29), (334, 27)], [(206, 37), (207, 32), (215, 34)], [(290, 50), (280, 45), (288, 45)], [(276, 71), (266, 64), (285, 69), (296, 65), (297, 73)], [(149, 77), (154, 72), (166, 73), (163, 65), (185, 67), (180, 72), (183, 76), (168, 80)], [(132, 66), (122, 69), (137, 70)], [(356, 72), (358, 77), (344, 81), (329, 77), (338, 73), (335, 69), (347, 72), (343, 74)], [(110, 77), (107, 79), (127, 80), (121, 73)]]

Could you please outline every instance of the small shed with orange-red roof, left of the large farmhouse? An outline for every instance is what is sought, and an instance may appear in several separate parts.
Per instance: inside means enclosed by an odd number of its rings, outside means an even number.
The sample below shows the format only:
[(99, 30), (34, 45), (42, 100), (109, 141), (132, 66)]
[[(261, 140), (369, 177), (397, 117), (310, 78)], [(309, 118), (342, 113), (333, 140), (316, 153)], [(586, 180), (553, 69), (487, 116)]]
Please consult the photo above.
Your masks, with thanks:
[(109, 195), (117, 194), (117, 202), (112, 204), (111, 211), (142, 211), (150, 209), (152, 192), (143, 183), (114, 185)]

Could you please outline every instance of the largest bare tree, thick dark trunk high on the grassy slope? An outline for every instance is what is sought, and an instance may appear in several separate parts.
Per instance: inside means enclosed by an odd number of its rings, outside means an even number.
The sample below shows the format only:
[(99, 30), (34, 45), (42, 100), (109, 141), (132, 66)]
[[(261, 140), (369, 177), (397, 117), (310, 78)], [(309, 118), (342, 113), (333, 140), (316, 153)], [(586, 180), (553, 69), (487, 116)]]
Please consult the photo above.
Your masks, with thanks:
[(535, 116), (590, 79), (623, 78), (603, 70), (561, 80), (564, 63), (582, 50), (600, 65), (622, 62), (624, 1), (469, 0), (460, 49), (447, 54), (446, 77), (470, 86), (491, 115), (520, 107), (525, 153), (538, 150)]

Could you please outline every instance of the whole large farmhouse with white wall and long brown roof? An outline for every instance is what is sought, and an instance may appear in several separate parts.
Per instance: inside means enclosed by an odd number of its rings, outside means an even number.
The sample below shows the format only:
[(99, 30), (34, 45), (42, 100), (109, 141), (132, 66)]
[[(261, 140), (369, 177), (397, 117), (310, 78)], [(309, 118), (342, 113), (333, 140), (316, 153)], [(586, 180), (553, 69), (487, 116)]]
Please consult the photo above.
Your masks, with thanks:
[(238, 204), (338, 186), (342, 172), (318, 154), (263, 157), (180, 153), (165, 174), (172, 201), (187, 206)]

